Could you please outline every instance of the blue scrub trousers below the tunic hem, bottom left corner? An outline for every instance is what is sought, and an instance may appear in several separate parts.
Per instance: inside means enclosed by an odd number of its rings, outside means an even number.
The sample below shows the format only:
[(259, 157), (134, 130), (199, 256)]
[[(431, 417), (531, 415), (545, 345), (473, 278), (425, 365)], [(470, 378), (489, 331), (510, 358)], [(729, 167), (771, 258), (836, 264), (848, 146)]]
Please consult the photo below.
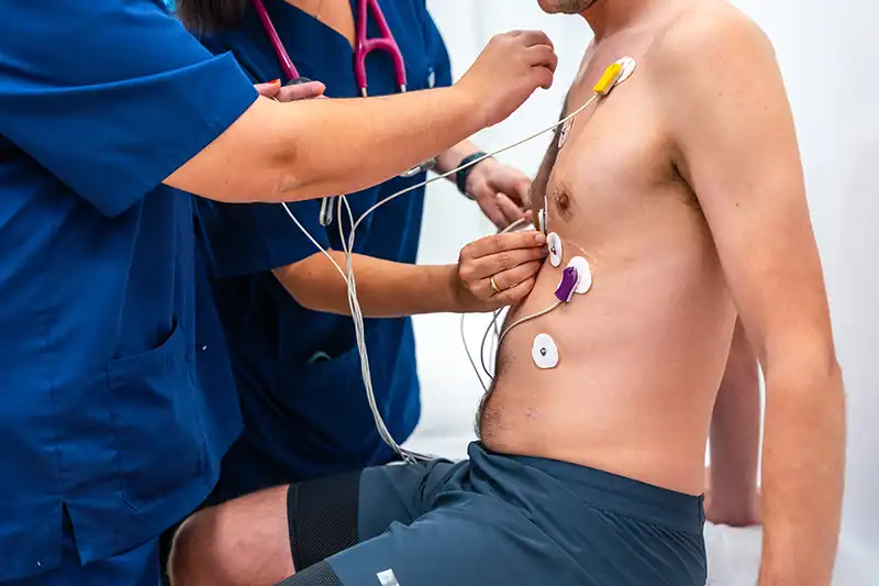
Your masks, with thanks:
[(0, 583), (2, 586), (156, 586), (160, 567), (158, 542), (82, 566), (69, 519), (65, 520), (62, 564), (35, 577)]

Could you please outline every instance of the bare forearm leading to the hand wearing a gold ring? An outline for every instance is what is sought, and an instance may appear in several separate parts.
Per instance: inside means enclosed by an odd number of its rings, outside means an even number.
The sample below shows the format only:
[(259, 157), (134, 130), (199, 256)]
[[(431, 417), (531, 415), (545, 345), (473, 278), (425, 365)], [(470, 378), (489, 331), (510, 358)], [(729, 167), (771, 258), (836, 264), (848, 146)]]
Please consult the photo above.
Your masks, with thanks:
[[(346, 270), (345, 255), (330, 251)], [(355, 254), (352, 258), (357, 298), (365, 318), (396, 318), (457, 311), (453, 292), (456, 267), (393, 263)], [(351, 314), (347, 286), (321, 253), (275, 269), (276, 278), (303, 307), (329, 313)]]

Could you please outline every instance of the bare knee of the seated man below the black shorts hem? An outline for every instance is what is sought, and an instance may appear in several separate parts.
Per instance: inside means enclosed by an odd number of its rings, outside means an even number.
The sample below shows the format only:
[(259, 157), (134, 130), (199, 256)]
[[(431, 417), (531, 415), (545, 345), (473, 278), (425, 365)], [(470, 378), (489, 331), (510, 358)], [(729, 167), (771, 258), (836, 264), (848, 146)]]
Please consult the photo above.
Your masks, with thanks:
[(173, 586), (272, 585), (293, 573), (287, 487), (197, 512), (177, 531)]

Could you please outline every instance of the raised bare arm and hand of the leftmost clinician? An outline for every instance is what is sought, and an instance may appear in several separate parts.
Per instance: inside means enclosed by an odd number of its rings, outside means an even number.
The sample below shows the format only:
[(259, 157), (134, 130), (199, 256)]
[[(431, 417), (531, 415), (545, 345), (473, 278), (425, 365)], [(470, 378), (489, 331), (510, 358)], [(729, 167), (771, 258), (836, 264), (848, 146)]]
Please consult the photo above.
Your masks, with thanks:
[(494, 37), (450, 88), (351, 100), (260, 98), (165, 183), (230, 202), (358, 191), (445, 151), (552, 85), (556, 57), (539, 32)]

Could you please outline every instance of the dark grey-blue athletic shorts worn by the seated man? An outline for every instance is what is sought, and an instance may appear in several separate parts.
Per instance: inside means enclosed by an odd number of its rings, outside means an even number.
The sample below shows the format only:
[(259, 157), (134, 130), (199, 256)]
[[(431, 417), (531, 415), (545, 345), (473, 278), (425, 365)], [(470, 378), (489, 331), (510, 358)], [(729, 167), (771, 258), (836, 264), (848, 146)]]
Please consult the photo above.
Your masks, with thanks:
[(278, 586), (703, 586), (702, 498), (496, 454), (293, 485)]

